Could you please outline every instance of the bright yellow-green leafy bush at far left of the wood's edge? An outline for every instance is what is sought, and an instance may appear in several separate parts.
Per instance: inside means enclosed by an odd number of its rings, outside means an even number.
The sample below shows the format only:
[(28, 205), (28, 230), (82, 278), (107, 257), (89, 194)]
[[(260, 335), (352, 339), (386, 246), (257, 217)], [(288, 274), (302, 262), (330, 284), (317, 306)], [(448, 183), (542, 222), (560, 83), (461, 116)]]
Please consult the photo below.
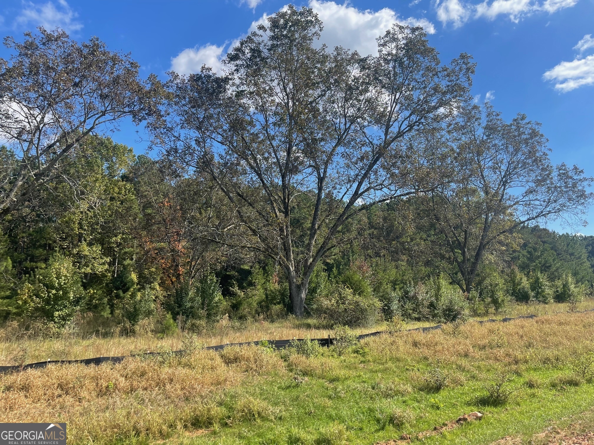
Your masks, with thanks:
[(17, 295), (25, 314), (43, 317), (58, 328), (71, 322), (85, 299), (77, 268), (69, 258), (61, 255), (53, 256), (48, 268), (37, 269)]

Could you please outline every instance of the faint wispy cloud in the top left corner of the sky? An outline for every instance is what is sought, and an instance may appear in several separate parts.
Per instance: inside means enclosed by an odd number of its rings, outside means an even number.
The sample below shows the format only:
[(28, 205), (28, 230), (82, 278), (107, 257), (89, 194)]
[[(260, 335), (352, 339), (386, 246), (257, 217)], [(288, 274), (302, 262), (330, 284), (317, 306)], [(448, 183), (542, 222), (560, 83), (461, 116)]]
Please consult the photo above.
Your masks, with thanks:
[(83, 28), (83, 24), (75, 20), (78, 14), (72, 11), (72, 8), (69, 7), (65, 0), (58, 0), (57, 7), (51, 1), (45, 4), (24, 2), (23, 5), (23, 10), (15, 18), (15, 25), (17, 26), (41, 25), (48, 30), (62, 28), (68, 33)]

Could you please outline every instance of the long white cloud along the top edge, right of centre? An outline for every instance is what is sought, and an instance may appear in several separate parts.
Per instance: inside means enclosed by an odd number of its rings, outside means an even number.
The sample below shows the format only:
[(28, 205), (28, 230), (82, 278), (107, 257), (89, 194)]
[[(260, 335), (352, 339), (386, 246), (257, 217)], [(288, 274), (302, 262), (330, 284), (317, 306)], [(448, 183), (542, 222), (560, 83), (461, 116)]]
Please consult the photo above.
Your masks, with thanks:
[(535, 12), (557, 12), (560, 9), (573, 7), (578, 0), (484, 0), (478, 4), (465, 3), (460, 0), (437, 0), (435, 9), (441, 23), (451, 23), (454, 27), (462, 26), (466, 21), (476, 18), (495, 20), (500, 15), (507, 15), (511, 21), (518, 22)]

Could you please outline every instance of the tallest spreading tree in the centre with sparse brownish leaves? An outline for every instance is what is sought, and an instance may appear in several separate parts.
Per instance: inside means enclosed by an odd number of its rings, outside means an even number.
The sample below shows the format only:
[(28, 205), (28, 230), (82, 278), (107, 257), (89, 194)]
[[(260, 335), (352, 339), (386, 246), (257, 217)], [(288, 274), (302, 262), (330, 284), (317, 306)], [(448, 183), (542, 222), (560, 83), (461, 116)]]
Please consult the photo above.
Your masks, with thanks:
[(406, 136), (450, 116), (474, 68), (466, 55), (441, 65), (422, 28), (393, 26), (365, 58), (319, 47), (322, 28), (311, 9), (277, 12), (230, 51), (226, 75), (171, 73), (150, 124), (156, 146), (210, 174), (233, 206), (210, 238), (273, 258), (296, 316), (343, 225), (425, 186)]

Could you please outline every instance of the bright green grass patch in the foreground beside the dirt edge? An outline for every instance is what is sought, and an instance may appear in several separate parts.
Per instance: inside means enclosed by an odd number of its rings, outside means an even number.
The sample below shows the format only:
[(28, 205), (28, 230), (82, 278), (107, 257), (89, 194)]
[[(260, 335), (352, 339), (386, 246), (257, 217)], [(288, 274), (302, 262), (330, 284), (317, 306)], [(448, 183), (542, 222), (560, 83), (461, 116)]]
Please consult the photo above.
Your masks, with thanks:
[[(282, 374), (257, 377), (224, 403), (232, 413), (236, 402), (230, 400), (261, 400), (268, 415), (232, 419), (230, 424), (223, 420), (212, 433), (187, 442), (373, 444), (403, 433), (415, 436), (480, 411), (485, 414), (481, 421), (424, 442), (488, 444), (504, 436), (527, 439), (551, 422), (594, 405), (594, 385), (567, 379), (571, 370), (566, 366), (489, 368), (468, 360), (435, 368), (429, 358), (382, 360), (369, 352), (345, 357), (326, 352), (302, 361), (309, 365), (305, 373), (292, 370), (301, 379)], [(443, 389), (433, 385), (437, 372), (445, 376)], [(502, 374), (505, 400), (491, 400), (489, 387)]]

